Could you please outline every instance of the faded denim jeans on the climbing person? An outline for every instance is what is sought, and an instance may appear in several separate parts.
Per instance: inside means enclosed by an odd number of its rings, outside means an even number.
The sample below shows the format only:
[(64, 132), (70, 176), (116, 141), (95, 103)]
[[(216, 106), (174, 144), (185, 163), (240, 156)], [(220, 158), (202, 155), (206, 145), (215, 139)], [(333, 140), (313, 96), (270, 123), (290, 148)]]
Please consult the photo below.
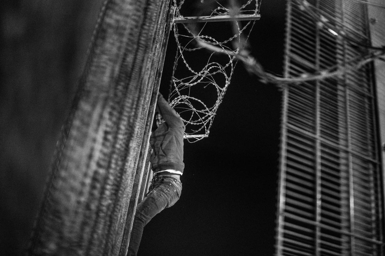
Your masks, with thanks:
[(169, 176), (155, 176), (146, 197), (138, 203), (132, 225), (128, 255), (136, 255), (141, 243), (143, 228), (163, 209), (178, 201), (182, 192), (182, 183)]

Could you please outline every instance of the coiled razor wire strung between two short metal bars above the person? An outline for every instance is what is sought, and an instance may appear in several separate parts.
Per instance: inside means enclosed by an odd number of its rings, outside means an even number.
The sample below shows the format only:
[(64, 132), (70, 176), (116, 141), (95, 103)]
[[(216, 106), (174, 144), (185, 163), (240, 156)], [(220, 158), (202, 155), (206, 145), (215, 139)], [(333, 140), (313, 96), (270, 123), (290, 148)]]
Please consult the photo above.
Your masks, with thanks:
[[(244, 1), (243, 5), (236, 7), (236, 3), (239, 2), (206, 1), (206, 6), (211, 8), (209, 17), (259, 14), (261, 0)], [(175, 17), (183, 17), (181, 15), (183, 4), (184, 0), (181, 0), (179, 4), (174, 0)], [(228, 7), (225, 7), (226, 4)], [(198, 27), (198, 23), (174, 24), (177, 53), (170, 83), (169, 102), (184, 121), (185, 137), (189, 142), (196, 142), (208, 136), (214, 116), (223, 100), (236, 66), (236, 59), (233, 55), (209, 52), (206, 48), (198, 46), (196, 40), (217, 46), (223, 51), (238, 53), (240, 50), (244, 50), (245, 46), (245, 42), (241, 40), (241, 33), (246, 32), (246, 38), (248, 38), (254, 22), (247, 21), (246, 25), (242, 26), (240, 22), (232, 21), (233, 24), (228, 30), (233, 30), (233, 33), (223, 40), (219, 40), (218, 36), (217, 38), (212, 36), (208, 22), (199, 23), (200, 27)], [(197, 58), (197, 56), (207, 59), (203, 67), (198, 66), (199, 63), (202, 63), (201, 59), (191, 61), (191, 58)]]

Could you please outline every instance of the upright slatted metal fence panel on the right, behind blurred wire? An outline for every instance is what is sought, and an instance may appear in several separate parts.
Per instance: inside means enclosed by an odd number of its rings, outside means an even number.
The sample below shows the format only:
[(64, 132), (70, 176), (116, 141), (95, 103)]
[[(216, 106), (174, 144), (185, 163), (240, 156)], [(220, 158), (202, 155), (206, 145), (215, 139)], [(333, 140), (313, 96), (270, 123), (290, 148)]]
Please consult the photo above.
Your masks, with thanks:
[[(288, 0), (286, 77), (346, 66), (363, 55), (364, 47), (331, 33), (316, 17), (370, 43), (366, 5)], [(384, 255), (374, 88), (370, 64), (283, 88), (276, 255)]]

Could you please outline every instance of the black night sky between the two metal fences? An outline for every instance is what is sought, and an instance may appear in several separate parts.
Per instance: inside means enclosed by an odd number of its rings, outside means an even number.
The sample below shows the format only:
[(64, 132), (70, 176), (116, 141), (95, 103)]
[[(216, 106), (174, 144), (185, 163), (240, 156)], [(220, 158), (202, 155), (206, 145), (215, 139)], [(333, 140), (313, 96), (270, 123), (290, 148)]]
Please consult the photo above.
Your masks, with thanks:
[[(252, 55), (282, 74), (285, 1), (264, 0), (260, 13)], [(164, 96), (175, 53), (171, 32)], [(238, 63), (209, 137), (185, 141), (181, 198), (145, 227), (139, 255), (273, 255), (280, 114), (278, 88)]]

